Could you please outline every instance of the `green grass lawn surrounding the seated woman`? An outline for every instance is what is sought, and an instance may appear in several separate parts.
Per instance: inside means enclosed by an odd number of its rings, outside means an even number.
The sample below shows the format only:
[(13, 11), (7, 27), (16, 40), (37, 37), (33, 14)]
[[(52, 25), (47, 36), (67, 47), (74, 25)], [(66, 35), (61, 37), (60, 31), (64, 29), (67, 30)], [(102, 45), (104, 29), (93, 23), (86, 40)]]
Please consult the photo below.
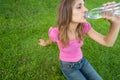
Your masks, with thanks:
[[(86, 6), (92, 9), (105, 2), (86, 0)], [(0, 80), (65, 80), (57, 45), (38, 45), (39, 38), (47, 40), (49, 27), (56, 25), (58, 3), (59, 0), (0, 0)], [(107, 21), (88, 21), (95, 30), (107, 34)], [(104, 80), (120, 80), (119, 44), (120, 36), (112, 48), (85, 37), (83, 53)]]

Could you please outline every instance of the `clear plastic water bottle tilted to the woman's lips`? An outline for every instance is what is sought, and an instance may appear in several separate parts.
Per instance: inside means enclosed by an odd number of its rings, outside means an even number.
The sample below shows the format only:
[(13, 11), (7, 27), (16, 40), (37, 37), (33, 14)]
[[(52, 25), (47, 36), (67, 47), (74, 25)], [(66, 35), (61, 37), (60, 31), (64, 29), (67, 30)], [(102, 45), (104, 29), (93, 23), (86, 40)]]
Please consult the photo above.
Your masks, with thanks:
[(102, 16), (120, 16), (120, 3), (94, 8), (85, 14), (86, 18), (99, 19)]

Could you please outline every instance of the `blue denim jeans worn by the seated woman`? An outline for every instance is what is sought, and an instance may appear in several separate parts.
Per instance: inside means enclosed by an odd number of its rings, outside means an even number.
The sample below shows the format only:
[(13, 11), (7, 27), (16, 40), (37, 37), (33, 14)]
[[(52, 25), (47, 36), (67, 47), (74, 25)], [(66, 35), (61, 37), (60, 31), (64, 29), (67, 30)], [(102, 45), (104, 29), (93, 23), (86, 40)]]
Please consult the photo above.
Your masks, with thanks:
[(60, 66), (67, 80), (103, 80), (85, 57), (78, 62), (60, 61)]

